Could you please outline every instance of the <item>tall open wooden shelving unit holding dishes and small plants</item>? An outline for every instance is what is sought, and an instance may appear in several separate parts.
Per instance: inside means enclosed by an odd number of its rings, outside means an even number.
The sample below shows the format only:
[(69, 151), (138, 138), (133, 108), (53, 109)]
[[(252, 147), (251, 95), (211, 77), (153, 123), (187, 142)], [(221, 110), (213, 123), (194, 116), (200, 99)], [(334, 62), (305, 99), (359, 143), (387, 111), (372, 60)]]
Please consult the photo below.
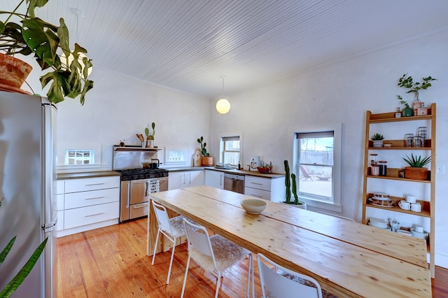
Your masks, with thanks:
[[(370, 126), (374, 124), (384, 123), (387, 129), (393, 129), (393, 125), (399, 122), (409, 122), (411, 124), (415, 121), (426, 120), (428, 123), (427, 127), (430, 127), (430, 139), (425, 141), (423, 148), (409, 148), (405, 146), (404, 140), (384, 140), (383, 143), (390, 143), (390, 148), (374, 148), (372, 146), (372, 141), (370, 141)], [(404, 135), (406, 132), (402, 132)], [(371, 151), (380, 150), (381, 155), (387, 155), (388, 152), (393, 152), (396, 150), (408, 150), (414, 152), (414, 154), (421, 155), (425, 152), (430, 153), (431, 162), (430, 169), (433, 171), (428, 171), (428, 178), (426, 180), (411, 180), (407, 178), (402, 178), (399, 175), (399, 171), (402, 169), (387, 168), (386, 176), (372, 176), (370, 174), (370, 166), (368, 165), (369, 154)], [(429, 152), (428, 152), (429, 151)], [(430, 196), (421, 198), (418, 202), (421, 204), (422, 212), (416, 213), (414, 211), (403, 210), (398, 206), (398, 202), (405, 198), (403, 197), (390, 197), (395, 202), (395, 206), (386, 207), (370, 204), (369, 198), (372, 197), (372, 192), (374, 190), (369, 188), (369, 183), (371, 180), (384, 179), (389, 181), (408, 181), (409, 183), (423, 183), (425, 185), (430, 185)], [(364, 179), (363, 179), (363, 223), (367, 224), (369, 219), (366, 213), (368, 208), (375, 208), (376, 211), (392, 211), (396, 213), (415, 215), (423, 218), (429, 218), (430, 220), (430, 231), (428, 239), (428, 254), (430, 260), (430, 272), (431, 276), (434, 277), (435, 274), (435, 252), (434, 252), (434, 241), (435, 241), (435, 104), (431, 104), (428, 108), (428, 115), (423, 116), (412, 116), (412, 117), (402, 117), (395, 118), (395, 113), (378, 113), (372, 114), (370, 111), (366, 113), (365, 121), (365, 152), (364, 152)]]

